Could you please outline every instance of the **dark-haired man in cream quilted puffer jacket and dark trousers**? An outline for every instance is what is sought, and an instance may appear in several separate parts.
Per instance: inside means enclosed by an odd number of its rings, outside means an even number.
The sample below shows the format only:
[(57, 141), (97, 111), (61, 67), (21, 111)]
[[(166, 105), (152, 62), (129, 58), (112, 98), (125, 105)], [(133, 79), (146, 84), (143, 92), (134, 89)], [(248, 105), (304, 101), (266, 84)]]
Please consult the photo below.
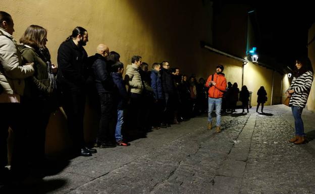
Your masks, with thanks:
[[(130, 108), (127, 126), (131, 126), (133, 130), (138, 130), (141, 136), (144, 133), (143, 124), (140, 118), (141, 94), (143, 90), (142, 80), (139, 73), (141, 64), (141, 56), (132, 56), (131, 64), (126, 67), (125, 82), (128, 86), (130, 97)], [(134, 124), (135, 123), (135, 124)]]

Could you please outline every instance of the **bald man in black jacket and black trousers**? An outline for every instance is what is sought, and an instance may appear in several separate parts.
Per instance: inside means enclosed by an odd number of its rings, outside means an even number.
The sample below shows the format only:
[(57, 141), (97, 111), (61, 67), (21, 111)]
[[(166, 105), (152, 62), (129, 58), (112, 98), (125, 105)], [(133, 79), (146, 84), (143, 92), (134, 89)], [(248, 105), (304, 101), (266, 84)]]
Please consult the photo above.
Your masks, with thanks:
[(115, 142), (115, 114), (114, 82), (111, 76), (111, 67), (106, 60), (109, 54), (107, 45), (99, 44), (96, 48), (92, 63), (92, 76), (100, 103), (100, 120), (97, 138), (94, 147), (113, 148)]

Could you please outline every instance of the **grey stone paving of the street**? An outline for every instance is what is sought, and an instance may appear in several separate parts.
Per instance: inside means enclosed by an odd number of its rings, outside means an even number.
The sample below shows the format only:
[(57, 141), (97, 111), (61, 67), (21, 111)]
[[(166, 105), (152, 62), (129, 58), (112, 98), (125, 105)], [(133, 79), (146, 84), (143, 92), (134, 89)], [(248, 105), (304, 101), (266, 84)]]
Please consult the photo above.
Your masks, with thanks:
[(196, 117), (0, 193), (315, 193), (314, 114), (302, 115), (309, 142), (294, 145), (287, 142), (294, 132), (290, 108), (237, 111), (222, 116), (220, 134)]

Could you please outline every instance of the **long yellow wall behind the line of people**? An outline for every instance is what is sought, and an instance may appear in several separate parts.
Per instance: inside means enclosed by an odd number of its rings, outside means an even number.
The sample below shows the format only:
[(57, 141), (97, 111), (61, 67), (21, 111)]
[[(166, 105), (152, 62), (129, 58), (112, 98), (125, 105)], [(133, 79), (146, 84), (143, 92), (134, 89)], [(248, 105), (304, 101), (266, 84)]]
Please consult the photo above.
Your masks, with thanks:
[[(99, 43), (104, 43), (110, 50), (121, 54), (121, 61), (125, 66), (130, 63), (131, 56), (137, 54), (149, 65), (169, 60), (170, 66), (179, 67), (181, 73), (188, 76), (195, 74), (197, 78), (205, 79), (214, 73), (218, 64), (223, 64), (227, 81), (232, 84), (237, 82), (241, 88), (242, 62), (200, 47), (201, 40), (213, 41), (218, 44), (219, 49), (222, 47), (228, 53), (238, 56), (245, 53), (247, 13), (242, 12), (237, 17), (235, 15), (240, 13), (237, 9), (244, 11), (245, 8), (235, 9), (235, 6), (228, 6), (221, 10), (224, 9), (226, 10), (222, 13), (230, 14), (234, 18), (233, 22), (224, 24), (222, 21), (229, 20), (224, 14), (219, 15), (217, 24), (221, 25), (216, 29), (217, 39), (213, 40), (212, 3), (209, 1), (1, 0), (1, 10), (11, 14), (14, 20), (14, 37), (17, 40), (31, 24), (48, 30), (47, 47), (54, 63), (57, 63), (59, 45), (71, 34), (74, 27), (82, 26), (89, 34), (89, 42), (85, 46), (89, 55), (95, 53)], [(231, 44), (232, 42), (235, 44)], [(224, 45), (226, 49), (223, 48)], [(253, 71), (257, 71), (257, 75), (253, 75)], [(269, 102), (270, 72), (265, 68), (246, 64), (244, 73), (244, 84), (253, 94), (260, 85), (266, 87)], [(253, 99), (255, 102), (256, 97)], [(60, 111), (51, 116), (47, 128), (47, 152), (58, 153), (70, 144), (65, 122), (65, 116)], [(95, 111), (87, 106), (87, 142), (95, 137), (97, 125)]]

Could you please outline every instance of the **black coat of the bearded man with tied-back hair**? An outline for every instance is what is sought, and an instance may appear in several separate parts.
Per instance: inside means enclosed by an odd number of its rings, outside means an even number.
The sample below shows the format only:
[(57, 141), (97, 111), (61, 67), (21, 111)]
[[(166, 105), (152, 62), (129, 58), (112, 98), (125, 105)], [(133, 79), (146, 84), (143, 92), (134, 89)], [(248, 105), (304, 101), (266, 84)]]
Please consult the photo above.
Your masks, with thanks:
[(67, 88), (81, 91), (88, 73), (87, 53), (83, 46), (77, 46), (72, 39), (61, 43), (57, 61), (57, 81)]

